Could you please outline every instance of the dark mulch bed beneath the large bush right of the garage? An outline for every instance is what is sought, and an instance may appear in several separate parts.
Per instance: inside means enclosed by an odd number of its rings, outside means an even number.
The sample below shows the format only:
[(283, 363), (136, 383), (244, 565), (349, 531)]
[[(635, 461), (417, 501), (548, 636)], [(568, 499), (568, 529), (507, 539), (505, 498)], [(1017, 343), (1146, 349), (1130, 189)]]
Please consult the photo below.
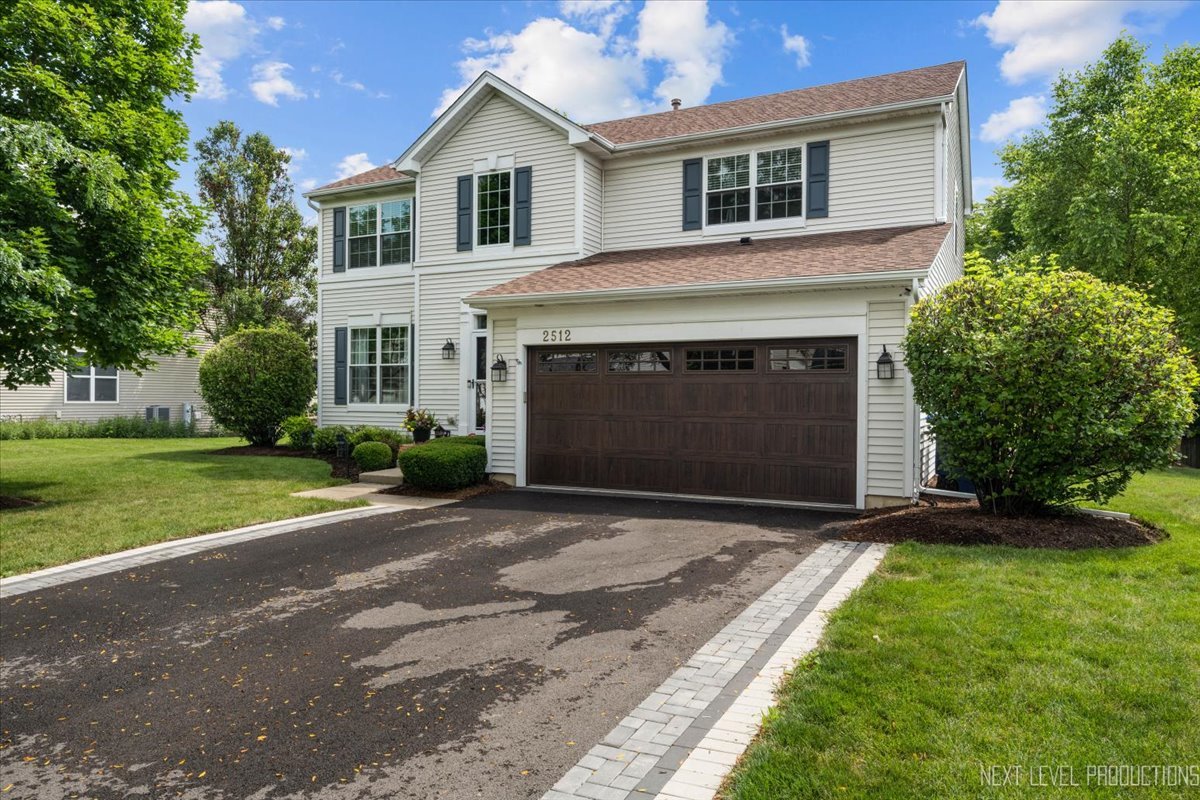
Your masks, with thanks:
[(1133, 519), (1087, 513), (1044, 517), (995, 517), (977, 503), (937, 501), (937, 505), (882, 509), (858, 518), (842, 539), (860, 542), (924, 542), (926, 545), (1006, 545), (1050, 549), (1135, 547), (1166, 539), (1166, 533)]

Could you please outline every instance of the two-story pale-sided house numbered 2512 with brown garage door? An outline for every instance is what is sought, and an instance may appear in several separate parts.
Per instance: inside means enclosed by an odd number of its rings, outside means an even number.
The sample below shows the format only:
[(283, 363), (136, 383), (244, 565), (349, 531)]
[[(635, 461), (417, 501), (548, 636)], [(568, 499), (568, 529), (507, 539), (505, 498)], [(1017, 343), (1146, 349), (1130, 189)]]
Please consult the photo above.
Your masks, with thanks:
[(484, 73), (307, 194), (320, 422), (428, 408), (518, 486), (902, 503), (898, 348), (962, 272), (968, 130), (962, 62), (596, 125)]

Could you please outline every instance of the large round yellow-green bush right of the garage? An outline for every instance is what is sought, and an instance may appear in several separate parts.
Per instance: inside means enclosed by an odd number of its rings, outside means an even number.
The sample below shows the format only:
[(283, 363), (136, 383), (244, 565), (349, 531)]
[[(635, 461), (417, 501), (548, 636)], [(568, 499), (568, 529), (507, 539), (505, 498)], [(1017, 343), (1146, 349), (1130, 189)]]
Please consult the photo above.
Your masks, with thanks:
[(917, 303), (905, 360), (943, 465), (1027, 513), (1170, 464), (1198, 383), (1172, 321), (1082, 272), (988, 272)]

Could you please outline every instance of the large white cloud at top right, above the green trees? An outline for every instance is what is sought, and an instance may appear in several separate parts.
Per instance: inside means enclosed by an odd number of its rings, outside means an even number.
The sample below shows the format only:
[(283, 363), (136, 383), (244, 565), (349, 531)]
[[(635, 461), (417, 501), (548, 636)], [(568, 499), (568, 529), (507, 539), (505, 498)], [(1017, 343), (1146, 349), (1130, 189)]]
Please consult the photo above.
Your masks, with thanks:
[(1054, 78), (1096, 59), (1121, 31), (1156, 30), (1180, 13), (1174, 0), (1001, 0), (974, 24), (1006, 48), (1000, 72), (1013, 84)]

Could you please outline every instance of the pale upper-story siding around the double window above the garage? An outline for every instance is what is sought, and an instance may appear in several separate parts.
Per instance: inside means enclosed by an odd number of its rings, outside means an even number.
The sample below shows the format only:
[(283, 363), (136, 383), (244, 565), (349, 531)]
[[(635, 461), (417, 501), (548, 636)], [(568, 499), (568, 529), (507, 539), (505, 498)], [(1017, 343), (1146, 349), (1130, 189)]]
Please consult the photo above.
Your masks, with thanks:
[[(766, 149), (821, 139), (829, 139), (829, 216), (811, 219), (804, 228), (750, 231), (751, 235), (791, 236), (934, 222), (932, 121), (906, 119), (890, 126), (808, 133), (803, 139), (794, 134), (775, 136), (746, 143), (744, 148)], [(679, 150), (654, 160), (610, 162), (604, 176), (604, 248), (694, 245), (746, 235), (745, 230), (719, 235), (682, 230), (682, 162), (734, 150), (737, 146), (722, 144)]]

